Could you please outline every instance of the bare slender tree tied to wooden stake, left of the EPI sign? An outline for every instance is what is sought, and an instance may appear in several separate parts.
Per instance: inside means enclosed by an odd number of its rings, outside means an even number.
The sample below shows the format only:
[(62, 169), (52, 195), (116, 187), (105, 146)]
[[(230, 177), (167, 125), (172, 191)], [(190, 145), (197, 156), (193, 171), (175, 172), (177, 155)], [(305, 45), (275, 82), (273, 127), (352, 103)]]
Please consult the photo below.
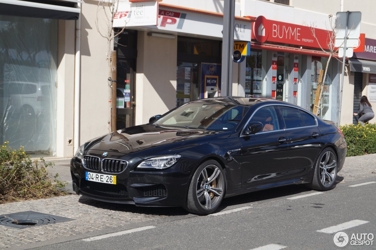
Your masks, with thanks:
[[(119, 32), (114, 32), (115, 14), (118, 12), (118, 0), (100, 0), (98, 2), (96, 27), (99, 34), (107, 39), (107, 63), (108, 63), (108, 130), (116, 130), (116, 52), (113, 50), (115, 37), (122, 33), (124, 27)], [(99, 13), (104, 12), (105, 18), (99, 18)]]

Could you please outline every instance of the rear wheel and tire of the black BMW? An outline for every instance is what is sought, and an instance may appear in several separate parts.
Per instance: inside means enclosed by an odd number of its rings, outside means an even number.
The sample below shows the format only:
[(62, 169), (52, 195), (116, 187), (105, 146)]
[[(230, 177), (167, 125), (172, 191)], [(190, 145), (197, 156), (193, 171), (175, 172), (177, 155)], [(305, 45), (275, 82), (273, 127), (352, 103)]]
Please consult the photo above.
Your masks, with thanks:
[(333, 188), (337, 177), (337, 156), (333, 149), (324, 149), (316, 162), (315, 172), (309, 188), (327, 191)]

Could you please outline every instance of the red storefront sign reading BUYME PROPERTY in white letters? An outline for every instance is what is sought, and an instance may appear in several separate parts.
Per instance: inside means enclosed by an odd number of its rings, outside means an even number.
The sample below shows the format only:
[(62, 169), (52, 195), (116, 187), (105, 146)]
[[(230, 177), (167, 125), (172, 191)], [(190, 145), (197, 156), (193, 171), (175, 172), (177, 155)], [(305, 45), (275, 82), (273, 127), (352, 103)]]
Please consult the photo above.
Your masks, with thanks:
[[(315, 29), (315, 34), (321, 47), (328, 49), (327, 30)], [(256, 18), (253, 23), (252, 39), (256, 39), (260, 43), (269, 41), (320, 48), (316, 38), (312, 35), (311, 27), (267, 20), (263, 16)]]

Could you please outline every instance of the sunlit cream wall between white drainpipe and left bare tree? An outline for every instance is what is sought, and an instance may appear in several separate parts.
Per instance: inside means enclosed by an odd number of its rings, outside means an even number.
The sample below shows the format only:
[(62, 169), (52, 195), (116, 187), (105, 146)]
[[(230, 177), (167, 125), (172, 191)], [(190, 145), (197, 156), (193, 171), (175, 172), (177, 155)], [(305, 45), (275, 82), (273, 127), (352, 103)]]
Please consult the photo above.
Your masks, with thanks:
[[(80, 144), (109, 132), (107, 39), (97, 31), (97, 10), (94, 1), (82, 5)], [(103, 32), (106, 17), (103, 11), (98, 16)]]

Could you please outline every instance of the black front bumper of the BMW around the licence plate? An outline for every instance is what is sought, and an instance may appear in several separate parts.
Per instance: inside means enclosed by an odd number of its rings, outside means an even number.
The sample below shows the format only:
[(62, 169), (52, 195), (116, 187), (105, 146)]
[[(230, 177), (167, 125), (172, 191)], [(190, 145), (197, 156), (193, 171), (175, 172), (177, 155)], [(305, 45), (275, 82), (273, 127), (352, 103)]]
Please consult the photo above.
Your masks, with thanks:
[[(84, 169), (81, 160), (72, 158), (73, 190), (91, 199), (112, 203), (136, 206), (185, 205), (192, 176), (192, 170), (188, 166), (192, 165), (184, 163), (184, 159), (180, 159), (165, 170), (135, 170), (143, 159), (133, 155), (112, 155), (111, 157), (121, 157), (122, 160), (129, 162), (122, 173), (113, 174), (117, 176), (116, 184), (87, 181), (86, 172), (94, 171)], [(102, 173), (102, 171), (94, 173)], [(108, 175), (108, 173), (103, 174)]]

